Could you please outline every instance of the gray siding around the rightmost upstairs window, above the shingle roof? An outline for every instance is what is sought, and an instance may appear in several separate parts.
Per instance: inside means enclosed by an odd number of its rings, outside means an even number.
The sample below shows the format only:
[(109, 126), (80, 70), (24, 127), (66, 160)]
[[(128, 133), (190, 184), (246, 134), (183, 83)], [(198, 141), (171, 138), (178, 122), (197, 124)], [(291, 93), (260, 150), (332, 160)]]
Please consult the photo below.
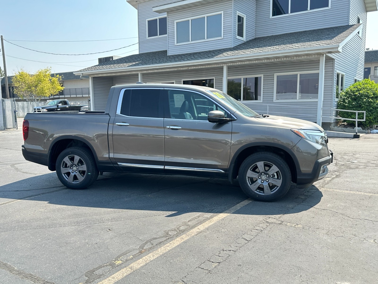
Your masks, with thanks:
[(331, 0), (330, 9), (273, 18), (271, 0), (256, 1), (256, 37), (349, 25), (350, 0)]

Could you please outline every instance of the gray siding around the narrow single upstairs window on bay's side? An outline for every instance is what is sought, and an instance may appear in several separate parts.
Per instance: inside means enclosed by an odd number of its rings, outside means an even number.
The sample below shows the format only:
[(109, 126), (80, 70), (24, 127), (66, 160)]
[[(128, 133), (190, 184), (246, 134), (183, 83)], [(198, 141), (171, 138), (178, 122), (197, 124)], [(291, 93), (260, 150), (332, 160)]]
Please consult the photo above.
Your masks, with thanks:
[(233, 0), (233, 11), (232, 11), (232, 46), (243, 43), (244, 41), (236, 38), (237, 31), (237, 16), (236, 13), (240, 12), (246, 16), (245, 21), (245, 37), (246, 41), (253, 39), (255, 37), (256, 29), (256, 0), (243, 1), (243, 0)]

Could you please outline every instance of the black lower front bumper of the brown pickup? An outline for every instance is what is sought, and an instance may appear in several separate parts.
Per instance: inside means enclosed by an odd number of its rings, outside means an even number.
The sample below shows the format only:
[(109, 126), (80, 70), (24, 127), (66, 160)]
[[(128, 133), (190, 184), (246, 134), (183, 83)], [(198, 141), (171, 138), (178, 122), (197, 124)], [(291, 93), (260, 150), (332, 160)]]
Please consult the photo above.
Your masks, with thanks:
[(330, 156), (319, 159), (315, 162), (311, 173), (297, 172), (297, 188), (304, 189), (310, 187), (315, 181), (324, 178), (328, 175), (328, 165), (333, 162), (333, 152), (330, 151)]

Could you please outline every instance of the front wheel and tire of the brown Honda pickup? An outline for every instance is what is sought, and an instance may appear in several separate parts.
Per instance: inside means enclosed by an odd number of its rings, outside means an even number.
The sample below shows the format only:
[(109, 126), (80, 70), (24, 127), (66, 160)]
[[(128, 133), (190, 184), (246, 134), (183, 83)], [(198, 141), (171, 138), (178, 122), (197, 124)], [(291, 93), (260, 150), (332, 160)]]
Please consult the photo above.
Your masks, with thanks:
[(248, 156), (239, 169), (240, 187), (248, 197), (257, 201), (273, 201), (283, 197), (290, 188), (290, 182), (289, 166), (271, 152)]

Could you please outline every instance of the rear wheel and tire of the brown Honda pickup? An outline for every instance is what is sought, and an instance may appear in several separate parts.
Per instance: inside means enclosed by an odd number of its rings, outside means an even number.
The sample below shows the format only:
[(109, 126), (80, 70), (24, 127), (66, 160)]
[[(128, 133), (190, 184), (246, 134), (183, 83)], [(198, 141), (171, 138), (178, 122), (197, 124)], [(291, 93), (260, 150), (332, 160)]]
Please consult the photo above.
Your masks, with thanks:
[(70, 189), (84, 189), (98, 177), (98, 169), (92, 153), (86, 148), (71, 147), (56, 159), (56, 175)]

